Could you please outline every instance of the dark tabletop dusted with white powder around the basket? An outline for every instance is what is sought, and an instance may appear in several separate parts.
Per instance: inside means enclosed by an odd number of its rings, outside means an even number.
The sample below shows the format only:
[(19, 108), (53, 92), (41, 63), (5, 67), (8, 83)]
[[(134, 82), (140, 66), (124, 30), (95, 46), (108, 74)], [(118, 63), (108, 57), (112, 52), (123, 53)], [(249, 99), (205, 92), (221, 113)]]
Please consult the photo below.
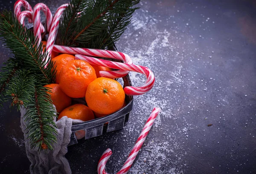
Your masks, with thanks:
[[(55, 11), (65, 2), (44, 3)], [(0, 1), (0, 8), (13, 4)], [(116, 45), (153, 70), (156, 84), (134, 97), (124, 129), (69, 147), (73, 173), (96, 174), (106, 148), (113, 151), (108, 172), (118, 171), (151, 109), (160, 106), (131, 174), (256, 174), (256, 1), (144, 0), (139, 6)], [(8, 57), (1, 44), (1, 65)], [(135, 86), (144, 81), (134, 73), (131, 79)], [(20, 114), (6, 104), (0, 120), (0, 173), (29, 173)]]

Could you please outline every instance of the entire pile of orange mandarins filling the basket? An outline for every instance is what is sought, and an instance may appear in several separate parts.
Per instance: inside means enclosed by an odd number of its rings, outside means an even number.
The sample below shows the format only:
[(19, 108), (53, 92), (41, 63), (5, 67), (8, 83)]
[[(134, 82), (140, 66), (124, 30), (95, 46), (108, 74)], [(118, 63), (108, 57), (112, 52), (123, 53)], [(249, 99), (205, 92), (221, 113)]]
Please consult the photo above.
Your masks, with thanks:
[[(55, 57), (56, 56), (56, 57)], [(89, 121), (116, 112), (125, 105), (125, 92), (119, 82), (99, 76), (110, 68), (92, 66), (75, 60), (74, 55), (52, 53), (56, 66), (56, 84), (47, 84), (58, 120), (63, 116)], [(84, 104), (71, 105), (71, 98), (83, 98)]]

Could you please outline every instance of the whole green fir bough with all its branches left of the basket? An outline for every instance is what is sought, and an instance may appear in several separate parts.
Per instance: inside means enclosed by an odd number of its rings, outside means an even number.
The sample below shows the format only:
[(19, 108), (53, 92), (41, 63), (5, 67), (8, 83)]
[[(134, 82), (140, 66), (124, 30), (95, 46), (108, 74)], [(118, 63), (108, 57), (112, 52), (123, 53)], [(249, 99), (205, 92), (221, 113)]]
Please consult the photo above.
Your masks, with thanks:
[(33, 33), (20, 25), (11, 12), (4, 11), (0, 15), (0, 37), (14, 54), (0, 73), (1, 99), (12, 99), (12, 105), (17, 105), (18, 109), (21, 105), (26, 106), (29, 142), (39, 149), (52, 149), (52, 143), (57, 140), (56, 111), (46, 93), (49, 89), (43, 86), (53, 82), (54, 64), (44, 61), (47, 52), (43, 52), (42, 43), (36, 48), (38, 41)]

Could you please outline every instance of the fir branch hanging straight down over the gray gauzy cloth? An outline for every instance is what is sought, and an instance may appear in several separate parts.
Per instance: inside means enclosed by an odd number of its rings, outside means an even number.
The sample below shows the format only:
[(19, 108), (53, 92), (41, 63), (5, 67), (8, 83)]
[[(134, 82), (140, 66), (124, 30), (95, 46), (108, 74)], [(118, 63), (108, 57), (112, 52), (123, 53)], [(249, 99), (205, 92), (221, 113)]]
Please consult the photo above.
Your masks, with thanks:
[(38, 87), (34, 98), (29, 102), (25, 119), (29, 121), (27, 129), (32, 147), (52, 150), (52, 143), (57, 141), (56, 115), (46, 87)]

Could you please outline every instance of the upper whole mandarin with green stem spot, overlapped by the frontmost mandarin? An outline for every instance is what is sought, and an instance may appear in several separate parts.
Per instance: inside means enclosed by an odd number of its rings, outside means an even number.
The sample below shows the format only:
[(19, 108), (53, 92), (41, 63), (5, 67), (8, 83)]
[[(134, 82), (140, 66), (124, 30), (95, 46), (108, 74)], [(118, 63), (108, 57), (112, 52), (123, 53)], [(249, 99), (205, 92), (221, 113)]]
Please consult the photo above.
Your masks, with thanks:
[(97, 78), (93, 67), (82, 60), (67, 62), (59, 76), (61, 89), (72, 98), (84, 97), (90, 82)]

